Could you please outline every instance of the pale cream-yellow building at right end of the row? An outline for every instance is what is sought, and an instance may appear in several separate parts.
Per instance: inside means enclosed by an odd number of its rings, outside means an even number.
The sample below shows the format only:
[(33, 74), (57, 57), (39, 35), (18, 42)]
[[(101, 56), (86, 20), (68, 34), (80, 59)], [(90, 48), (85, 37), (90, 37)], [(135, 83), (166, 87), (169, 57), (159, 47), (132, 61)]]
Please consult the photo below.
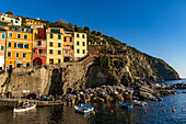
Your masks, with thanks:
[(74, 60), (79, 60), (86, 55), (86, 33), (74, 32)]

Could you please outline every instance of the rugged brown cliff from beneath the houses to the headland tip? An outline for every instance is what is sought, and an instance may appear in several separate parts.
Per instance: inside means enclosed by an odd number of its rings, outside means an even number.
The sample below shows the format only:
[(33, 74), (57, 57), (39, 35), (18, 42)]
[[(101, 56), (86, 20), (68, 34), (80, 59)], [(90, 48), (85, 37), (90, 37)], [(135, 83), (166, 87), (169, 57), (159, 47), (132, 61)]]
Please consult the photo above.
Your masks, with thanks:
[(147, 81), (179, 79), (163, 60), (129, 47), (128, 55), (92, 56), (79, 63), (15, 68), (0, 75), (1, 92), (12, 97), (34, 93), (65, 94), (103, 84), (132, 86)]

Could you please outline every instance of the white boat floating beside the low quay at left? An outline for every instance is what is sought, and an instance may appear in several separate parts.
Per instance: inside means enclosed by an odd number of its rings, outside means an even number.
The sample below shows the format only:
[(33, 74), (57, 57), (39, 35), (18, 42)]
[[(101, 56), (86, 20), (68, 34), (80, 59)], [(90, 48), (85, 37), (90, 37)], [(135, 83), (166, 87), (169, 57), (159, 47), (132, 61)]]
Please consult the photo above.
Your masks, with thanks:
[(14, 108), (13, 112), (25, 112), (25, 111), (28, 111), (28, 110), (33, 110), (35, 108), (36, 108), (36, 104), (27, 104), (27, 105)]

